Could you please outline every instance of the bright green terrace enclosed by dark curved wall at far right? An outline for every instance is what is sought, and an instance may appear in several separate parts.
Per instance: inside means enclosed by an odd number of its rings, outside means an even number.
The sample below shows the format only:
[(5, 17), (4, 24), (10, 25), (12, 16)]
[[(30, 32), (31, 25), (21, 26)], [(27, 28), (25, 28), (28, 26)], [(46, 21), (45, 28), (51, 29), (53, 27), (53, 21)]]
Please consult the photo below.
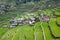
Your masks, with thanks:
[(50, 20), (49, 27), (50, 27), (50, 30), (52, 32), (52, 35), (55, 38), (60, 38), (60, 32), (59, 32), (60, 28), (57, 26), (56, 21), (54, 21), (53, 19)]

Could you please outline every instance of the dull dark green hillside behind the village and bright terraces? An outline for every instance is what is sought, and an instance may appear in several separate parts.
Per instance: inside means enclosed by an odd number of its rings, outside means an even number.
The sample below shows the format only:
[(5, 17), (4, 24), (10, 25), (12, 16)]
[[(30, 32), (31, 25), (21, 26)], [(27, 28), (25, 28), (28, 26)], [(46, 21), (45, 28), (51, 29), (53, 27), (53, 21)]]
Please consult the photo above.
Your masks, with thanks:
[(60, 0), (0, 0), (0, 20), (11, 18), (23, 12), (36, 12), (60, 7)]

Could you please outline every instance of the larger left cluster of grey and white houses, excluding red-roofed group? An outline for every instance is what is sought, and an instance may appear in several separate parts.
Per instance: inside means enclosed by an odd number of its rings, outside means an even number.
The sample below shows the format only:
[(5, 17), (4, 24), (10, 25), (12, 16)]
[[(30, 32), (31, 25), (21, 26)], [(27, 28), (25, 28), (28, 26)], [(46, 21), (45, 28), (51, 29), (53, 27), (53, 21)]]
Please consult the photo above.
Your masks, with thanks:
[[(10, 20), (10, 28), (14, 28), (16, 26), (23, 26), (25, 24), (29, 24), (31, 26), (33, 26), (35, 24), (35, 18), (31, 18), (31, 19), (23, 19), (23, 18), (12, 18)], [(7, 25), (4, 25), (4, 28), (8, 27)]]

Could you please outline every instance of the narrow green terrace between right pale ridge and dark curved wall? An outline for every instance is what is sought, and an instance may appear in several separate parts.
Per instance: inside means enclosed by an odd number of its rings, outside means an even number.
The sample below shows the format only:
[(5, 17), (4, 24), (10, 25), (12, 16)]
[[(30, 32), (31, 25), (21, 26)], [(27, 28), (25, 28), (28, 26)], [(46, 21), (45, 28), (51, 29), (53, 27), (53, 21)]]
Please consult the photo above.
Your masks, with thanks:
[(53, 40), (53, 37), (52, 37), (51, 32), (50, 32), (49, 27), (48, 27), (48, 23), (43, 22), (42, 26), (44, 28), (44, 33), (45, 33), (46, 40)]

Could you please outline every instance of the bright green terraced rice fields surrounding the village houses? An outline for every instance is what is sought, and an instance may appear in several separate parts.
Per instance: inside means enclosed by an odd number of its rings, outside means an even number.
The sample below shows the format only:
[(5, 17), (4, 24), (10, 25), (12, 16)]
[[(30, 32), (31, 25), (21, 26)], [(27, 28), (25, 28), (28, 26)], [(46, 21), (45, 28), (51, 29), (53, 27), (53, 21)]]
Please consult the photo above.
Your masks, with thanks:
[[(26, 24), (15, 28), (3, 28), (4, 24), (11, 25), (8, 21), (0, 23), (0, 40), (60, 40), (60, 11), (58, 11), (58, 8), (46, 9), (39, 12), (49, 16), (50, 20), (48, 22), (36, 22), (34, 26)], [(34, 12), (35, 16), (39, 12)], [(6, 19), (10, 20), (10, 16), (7, 16)], [(23, 18), (26, 16), (27, 18), (33, 17), (21, 14), (16, 18), (21, 16)]]

